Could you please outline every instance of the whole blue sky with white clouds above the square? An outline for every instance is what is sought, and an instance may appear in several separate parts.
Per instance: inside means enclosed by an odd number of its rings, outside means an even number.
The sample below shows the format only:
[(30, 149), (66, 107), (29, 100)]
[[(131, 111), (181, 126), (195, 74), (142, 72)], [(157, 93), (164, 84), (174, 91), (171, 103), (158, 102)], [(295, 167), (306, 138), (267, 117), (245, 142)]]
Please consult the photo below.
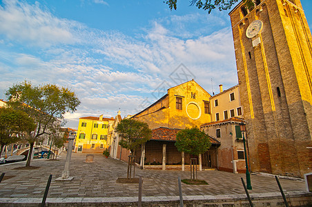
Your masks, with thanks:
[[(302, 0), (310, 28), (312, 1)], [(0, 0), (0, 99), (22, 81), (64, 86), (79, 117), (134, 115), (179, 83), (207, 92), (237, 85), (228, 11), (207, 14), (179, 0)]]

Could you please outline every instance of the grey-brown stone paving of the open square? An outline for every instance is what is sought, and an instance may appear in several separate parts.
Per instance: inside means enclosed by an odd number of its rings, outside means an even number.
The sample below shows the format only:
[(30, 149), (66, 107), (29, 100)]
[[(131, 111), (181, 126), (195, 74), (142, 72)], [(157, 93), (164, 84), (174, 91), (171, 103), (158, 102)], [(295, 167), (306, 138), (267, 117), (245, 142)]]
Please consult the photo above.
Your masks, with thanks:
[[(53, 175), (48, 197), (137, 197), (138, 184), (117, 184), (118, 177), (126, 177), (127, 164), (104, 155), (95, 154), (94, 162), (86, 163), (86, 154), (72, 154), (70, 176), (72, 181), (56, 181), (64, 170), (66, 156), (58, 161), (37, 159), (31, 166), (32, 170), (17, 170), (25, 166), (25, 162), (0, 166), (0, 172), (6, 176), (0, 184), (0, 198), (42, 198), (50, 174)], [(136, 177), (142, 176), (142, 196), (177, 196), (179, 195), (177, 179), (190, 177), (189, 171), (177, 170), (140, 170), (135, 169)], [(5, 178), (6, 178), (5, 176)], [(233, 195), (244, 194), (240, 177), (244, 174), (233, 174), (217, 170), (197, 172), (198, 179), (208, 182), (206, 186), (182, 184), (184, 195)], [(274, 177), (251, 175), (253, 190), (249, 193), (280, 192)], [(280, 178), (280, 184), (286, 191), (305, 190), (303, 180)]]

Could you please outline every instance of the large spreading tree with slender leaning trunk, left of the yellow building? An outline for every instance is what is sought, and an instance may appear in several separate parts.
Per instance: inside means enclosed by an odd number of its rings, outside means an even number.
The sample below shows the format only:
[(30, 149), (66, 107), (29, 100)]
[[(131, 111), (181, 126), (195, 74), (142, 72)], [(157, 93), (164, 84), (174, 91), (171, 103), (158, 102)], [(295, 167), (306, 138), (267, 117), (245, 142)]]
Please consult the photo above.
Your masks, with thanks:
[[(59, 87), (53, 84), (34, 86), (28, 81), (14, 84), (6, 92), (8, 106), (23, 110), (35, 120), (36, 129), (25, 135), (30, 144), (29, 155), (32, 155), (32, 148), (35, 141), (42, 135), (51, 135), (52, 130), (59, 128), (60, 121), (66, 112), (75, 112), (80, 101), (75, 92), (68, 88)], [(30, 166), (28, 156), (26, 167)]]

